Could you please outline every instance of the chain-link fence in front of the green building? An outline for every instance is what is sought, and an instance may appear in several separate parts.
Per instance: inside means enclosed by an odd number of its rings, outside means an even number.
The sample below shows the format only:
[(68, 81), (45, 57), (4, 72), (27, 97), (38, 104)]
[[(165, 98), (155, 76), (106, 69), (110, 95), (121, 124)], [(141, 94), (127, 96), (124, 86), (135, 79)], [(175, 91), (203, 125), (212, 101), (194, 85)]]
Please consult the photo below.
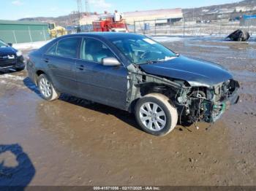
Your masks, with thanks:
[(46, 41), (50, 39), (48, 31), (45, 30), (0, 30), (0, 39), (4, 42), (23, 43)]

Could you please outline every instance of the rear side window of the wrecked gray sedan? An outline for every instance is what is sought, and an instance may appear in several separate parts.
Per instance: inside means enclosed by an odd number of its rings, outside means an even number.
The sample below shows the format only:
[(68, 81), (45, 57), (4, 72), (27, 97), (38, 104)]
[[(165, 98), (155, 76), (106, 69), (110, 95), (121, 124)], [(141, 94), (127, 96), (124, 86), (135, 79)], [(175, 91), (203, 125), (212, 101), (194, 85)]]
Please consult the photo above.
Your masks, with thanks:
[(58, 43), (56, 55), (77, 58), (79, 38), (61, 39)]

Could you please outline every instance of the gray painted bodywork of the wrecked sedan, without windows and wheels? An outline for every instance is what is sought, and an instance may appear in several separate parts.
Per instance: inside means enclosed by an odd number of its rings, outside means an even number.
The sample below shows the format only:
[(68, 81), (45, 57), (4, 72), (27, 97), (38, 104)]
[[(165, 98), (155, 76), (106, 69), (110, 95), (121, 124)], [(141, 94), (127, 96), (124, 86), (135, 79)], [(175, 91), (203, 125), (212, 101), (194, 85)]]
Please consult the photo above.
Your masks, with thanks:
[[(133, 101), (143, 96), (143, 91), (147, 88), (159, 86), (160, 89), (158, 90), (161, 91), (162, 86), (164, 86), (164, 89), (168, 91), (167, 93), (170, 93), (170, 99), (175, 101), (176, 98), (173, 96), (186, 97), (197, 86), (209, 87), (212, 92), (214, 88), (221, 87), (223, 82), (233, 79), (231, 74), (222, 66), (207, 61), (193, 60), (182, 55), (171, 61), (136, 66), (129, 63), (122, 52), (110, 42), (110, 39), (116, 37), (126, 38), (130, 36), (138, 35), (91, 33), (61, 36), (39, 50), (29, 53), (30, 61), (27, 65), (29, 77), (37, 83), (36, 73), (43, 71), (61, 93), (69, 93), (129, 112), (132, 111)], [(45, 52), (53, 44), (61, 39), (71, 37), (80, 38), (80, 42), (82, 42), (82, 38), (94, 38), (102, 41), (116, 55), (121, 65), (104, 66), (102, 63), (94, 61), (83, 61), (79, 59), (80, 51), (78, 51), (77, 58), (45, 55)], [(80, 44), (78, 44), (78, 50), (80, 50)], [(189, 82), (190, 86), (186, 86), (184, 82)], [(234, 96), (237, 101), (236, 90)], [(171, 95), (171, 93), (175, 94)], [(187, 101), (186, 106), (189, 106), (189, 103), (192, 104), (192, 102), (200, 104), (202, 100), (201, 98), (194, 98), (189, 101), (187, 98)], [(211, 104), (214, 104), (213, 100), (206, 102), (207, 108), (205, 109), (209, 115), (211, 115)], [(177, 107), (180, 109), (180, 105)]]

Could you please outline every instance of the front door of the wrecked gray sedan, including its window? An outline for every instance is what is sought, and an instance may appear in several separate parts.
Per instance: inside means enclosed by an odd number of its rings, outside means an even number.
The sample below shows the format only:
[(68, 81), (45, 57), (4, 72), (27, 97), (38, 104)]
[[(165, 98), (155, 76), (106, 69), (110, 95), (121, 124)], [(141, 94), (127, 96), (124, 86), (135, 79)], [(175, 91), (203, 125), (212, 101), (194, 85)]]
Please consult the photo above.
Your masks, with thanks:
[(127, 68), (102, 65), (102, 58), (116, 55), (99, 39), (84, 38), (80, 47), (80, 60), (76, 62), (80, 94), (91, 101), (125, 109)]

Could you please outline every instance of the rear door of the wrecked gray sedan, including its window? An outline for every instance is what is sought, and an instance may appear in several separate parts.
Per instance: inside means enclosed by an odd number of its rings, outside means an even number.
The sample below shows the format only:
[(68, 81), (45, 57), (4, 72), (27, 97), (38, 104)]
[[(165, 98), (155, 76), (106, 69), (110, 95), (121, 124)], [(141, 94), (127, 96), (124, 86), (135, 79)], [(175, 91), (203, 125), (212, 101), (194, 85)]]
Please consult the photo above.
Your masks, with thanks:
[(79, 37), (59, 40), (43, 56), (48, 65), (48, 74), (61, 93), (77, 95), (78, 83), (75, 80), (75, 62), (78, 60)]

